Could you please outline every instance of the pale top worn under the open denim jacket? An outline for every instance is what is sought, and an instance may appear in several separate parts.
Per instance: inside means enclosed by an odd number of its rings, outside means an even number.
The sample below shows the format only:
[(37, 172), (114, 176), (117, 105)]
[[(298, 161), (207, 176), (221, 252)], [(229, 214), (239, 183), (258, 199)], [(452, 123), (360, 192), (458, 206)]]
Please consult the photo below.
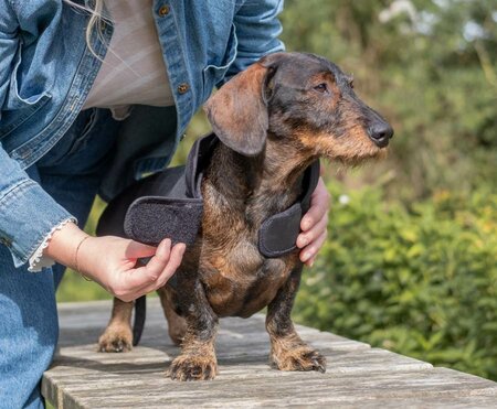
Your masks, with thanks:
[(124, 119), (133, 104), (175, 105), (152, 14), (152, 0), (105, 0), (114, 34), (83, 109), (113, 109)]

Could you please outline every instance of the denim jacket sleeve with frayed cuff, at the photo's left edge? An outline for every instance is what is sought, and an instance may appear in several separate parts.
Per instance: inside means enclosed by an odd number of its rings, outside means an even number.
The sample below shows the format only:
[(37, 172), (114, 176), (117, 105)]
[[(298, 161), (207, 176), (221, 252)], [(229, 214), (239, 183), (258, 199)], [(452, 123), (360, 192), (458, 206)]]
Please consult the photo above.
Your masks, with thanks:
[[(0, 123), (20, 43), (18, 31), (9, 0), (0, 0)], [(71, 214), (9, 157), (0, 139), (0, 243), (10, 249), (14, 266), (27, 262), (52, 229), (70, 218)]]

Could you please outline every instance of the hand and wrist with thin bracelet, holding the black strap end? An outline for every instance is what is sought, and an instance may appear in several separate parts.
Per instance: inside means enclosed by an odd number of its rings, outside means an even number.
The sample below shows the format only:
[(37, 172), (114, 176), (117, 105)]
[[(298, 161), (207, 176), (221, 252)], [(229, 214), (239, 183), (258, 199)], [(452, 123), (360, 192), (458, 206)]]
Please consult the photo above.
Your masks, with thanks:
[[(165, 239), (151, 247), (115, 236), (92, 237), (68, 223), (52, 236), (43, 255), (78, 270), (128, 302), (162, 287), (180, 266), (186, 246)], [(151, 257), (144, 267), (139, 258)]]

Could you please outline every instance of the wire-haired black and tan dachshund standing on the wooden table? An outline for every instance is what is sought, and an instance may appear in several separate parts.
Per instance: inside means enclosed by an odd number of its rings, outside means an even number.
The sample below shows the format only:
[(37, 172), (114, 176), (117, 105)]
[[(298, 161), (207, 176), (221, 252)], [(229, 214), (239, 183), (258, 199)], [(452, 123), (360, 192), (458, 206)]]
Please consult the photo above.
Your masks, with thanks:
[[(325, 357), (298, 336), (290, 319), (303, 270), (298, 249), (266, 257), (257, 232), (295, 203), (304, 172), (317, 159), (357, 164), (383, 155), (393, 130), (352, 88), (352, 78), (322, 57), (275, 53), (205, 104), (222, 143), (201, 182), (200, 233), (187, 248), (176, 286), (158, 290), (169, 335), (181, 345), (168, 370), (172, 379), (214, 378), (219, 317), (248, 317), (265, 306), (271, 365), (325, 372)], [(133, 306), (114, 300), (101, 351), (131, 348)]]

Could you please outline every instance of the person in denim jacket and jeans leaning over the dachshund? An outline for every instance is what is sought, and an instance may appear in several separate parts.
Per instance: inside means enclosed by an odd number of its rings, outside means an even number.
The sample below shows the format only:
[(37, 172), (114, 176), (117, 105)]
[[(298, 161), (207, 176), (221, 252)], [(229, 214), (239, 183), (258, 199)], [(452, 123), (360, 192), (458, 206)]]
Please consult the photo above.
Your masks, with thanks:
[[(124, 301), (163, 286), (184, 245), (82, 230), (110, 200), (167, 166), (215, 86), (282, 51), (283, 0), (0, 0), (0, 407), (43, 407), (65, 267)], [(322, 181), (297, 246), (326, 238)], [(136, 268), (138, 258), (151, 257)], [(30, 272), (38, 271), (38, 272)]]

